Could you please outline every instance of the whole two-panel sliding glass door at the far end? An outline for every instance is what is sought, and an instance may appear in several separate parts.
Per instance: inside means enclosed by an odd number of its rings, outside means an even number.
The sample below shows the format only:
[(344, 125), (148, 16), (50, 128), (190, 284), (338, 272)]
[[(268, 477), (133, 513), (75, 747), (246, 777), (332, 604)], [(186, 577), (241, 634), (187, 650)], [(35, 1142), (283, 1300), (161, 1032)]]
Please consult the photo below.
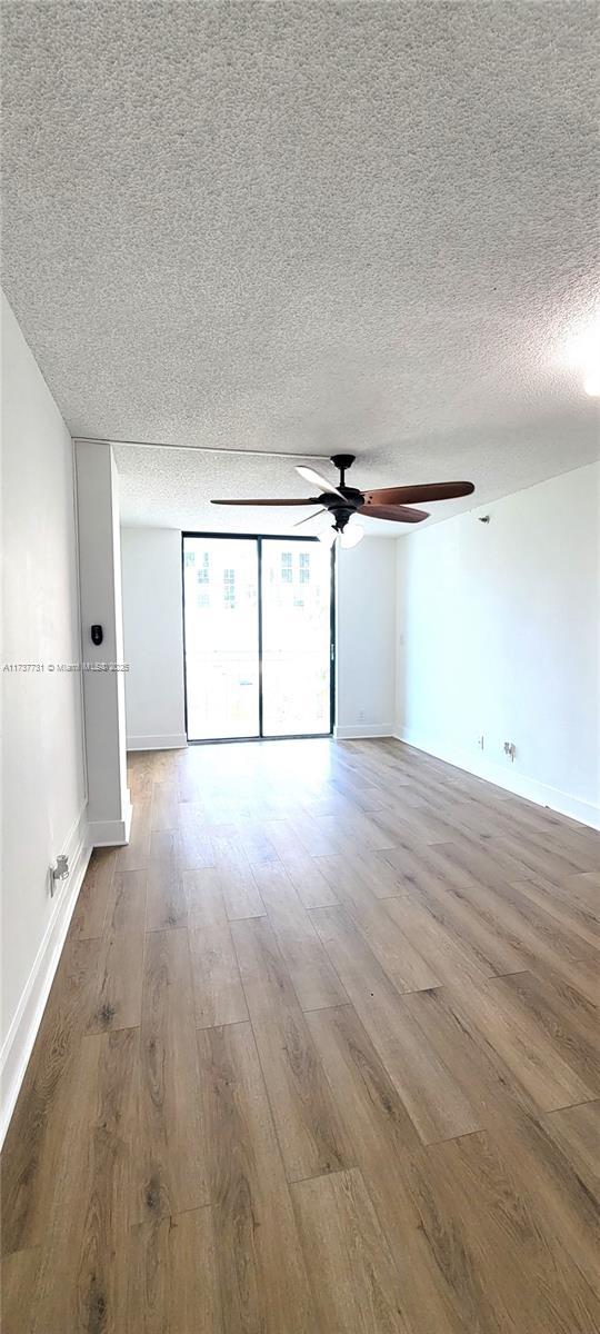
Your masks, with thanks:
[(189, 740), (329, 735), (332, 560), (311, 538), (183, 535)]

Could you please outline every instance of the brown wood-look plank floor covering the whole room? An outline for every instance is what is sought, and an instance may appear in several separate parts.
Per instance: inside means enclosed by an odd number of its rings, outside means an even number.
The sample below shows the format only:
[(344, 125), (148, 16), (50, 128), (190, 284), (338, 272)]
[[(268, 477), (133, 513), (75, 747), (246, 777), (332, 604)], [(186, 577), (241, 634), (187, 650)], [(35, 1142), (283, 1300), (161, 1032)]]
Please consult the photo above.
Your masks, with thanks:
[(4, 1334), (600, 1329), (600, 836), (395, 742), (131, 787), (4, 1147)]

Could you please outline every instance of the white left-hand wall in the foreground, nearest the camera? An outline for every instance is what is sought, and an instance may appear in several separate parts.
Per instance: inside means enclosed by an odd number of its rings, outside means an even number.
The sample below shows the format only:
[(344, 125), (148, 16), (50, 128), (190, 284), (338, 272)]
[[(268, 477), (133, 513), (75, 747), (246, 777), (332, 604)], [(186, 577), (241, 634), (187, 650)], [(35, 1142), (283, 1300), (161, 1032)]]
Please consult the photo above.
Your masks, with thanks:
[[(3, 297), (3, 968), (5, 1129), (87, 864), (73, 454)], [(40, 670), (37, 670), (40, 667)], [(49, 864), (68, 852), (55, 898)]]

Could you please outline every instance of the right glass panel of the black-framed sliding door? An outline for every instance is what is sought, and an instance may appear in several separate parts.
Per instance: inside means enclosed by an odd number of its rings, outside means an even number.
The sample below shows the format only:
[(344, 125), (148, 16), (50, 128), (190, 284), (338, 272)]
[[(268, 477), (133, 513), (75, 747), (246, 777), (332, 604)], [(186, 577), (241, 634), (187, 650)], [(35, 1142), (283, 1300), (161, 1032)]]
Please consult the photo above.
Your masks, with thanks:
[(263, 735), (331, 730), (331, 551), (261, 539)]

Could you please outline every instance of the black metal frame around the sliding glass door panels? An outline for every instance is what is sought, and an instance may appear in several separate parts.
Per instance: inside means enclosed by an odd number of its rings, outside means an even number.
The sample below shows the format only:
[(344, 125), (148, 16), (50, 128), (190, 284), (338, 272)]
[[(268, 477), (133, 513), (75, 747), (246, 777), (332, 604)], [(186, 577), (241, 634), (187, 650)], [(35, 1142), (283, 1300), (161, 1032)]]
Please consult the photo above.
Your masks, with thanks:
[[(259, 735), (257, 736), (188, 736), (188, 674), (185, 670), (185, 538), (217, 538), (220, 540), (256, 542), (257, 555), (257, 616), (259, 616)], [(205, 532), (193, 528), (181, 531), (181, 630), (183, 630), (183, 675), (184, 675), (184, 715), (188, 746), (231, 746), (239, 742), (297, 742), (333, 736), (336, 716), (336, 544), (331, 548), (329, 572), (329, 731), (328, 732), (288, 732), (284, 736), (265, 736), (263, 732), (263, 542), (319, 542), (319, 538), (289, 536), (287, 532)]]

